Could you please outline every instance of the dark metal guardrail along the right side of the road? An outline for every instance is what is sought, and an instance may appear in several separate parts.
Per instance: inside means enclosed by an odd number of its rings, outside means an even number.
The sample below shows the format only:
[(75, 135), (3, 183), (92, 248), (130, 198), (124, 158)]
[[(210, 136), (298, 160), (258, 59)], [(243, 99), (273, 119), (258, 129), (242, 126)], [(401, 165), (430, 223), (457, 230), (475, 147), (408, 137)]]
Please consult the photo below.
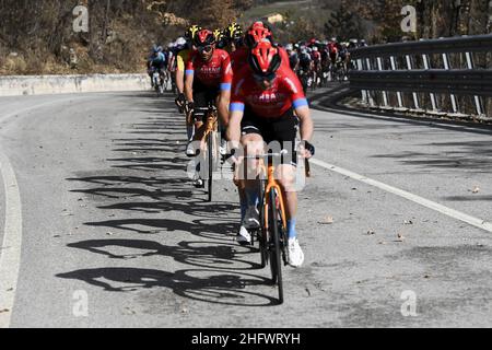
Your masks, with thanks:
[[(446, 113), (436, 94), (450, 101), (450, 114), (461, 115), (457, 96), (472, 96), (476, 114), (484, 115), (483, 97), (492, 96), (492, 70), (476, 69), (473, 54), (492, 52), (492, 35), (464, 36), (420, 42), (375, 45), (351, 50), (356, 70), (349, 74), (351, 88), (362, 91), (370, 107)], [(453, 69), (450, 55), (465, 55), (466, 69)], [(433, 56), (434, 55), (434, 56)], [(441, 67), (432, 67), (438, 55)], [(417, 67), (417, 61), (421, 67)], [(388, 97), (396, 92), (396, 102)], [(403, 93), (411, 93), (411, 106), (405, 106)], [(431, 107), (422, 108), (419, 93), (429, 93)], [(375, 94), (380, 95), (376, 103)], [(391, 106), (390, 104), (396, 104)]]

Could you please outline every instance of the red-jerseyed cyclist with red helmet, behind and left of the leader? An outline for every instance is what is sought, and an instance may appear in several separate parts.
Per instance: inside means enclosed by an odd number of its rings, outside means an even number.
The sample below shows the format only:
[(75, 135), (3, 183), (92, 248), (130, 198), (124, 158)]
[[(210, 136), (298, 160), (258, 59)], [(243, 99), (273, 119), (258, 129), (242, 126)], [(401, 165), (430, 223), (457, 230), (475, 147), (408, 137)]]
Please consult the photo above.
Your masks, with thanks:
[[(204, 133), (203, 118), (208, 106), (213, 103), (218, 107), (222, 127), (229, 125), (229, 102), (233, 71), (229, 54), (215, 48), (215, 36), (209, 30), (201, 30), (195, 34), (194, 45), (197, 49), (186, 65), (185, 95), (187, 109), (192, 110), (195, 117), (195, 140), (201, 140)], [(225, 139), (225, 129), (222, 138)], [(188, 152), (190, 151), (190, 152)], [(188, 150), (190, 154), (195, 150)], [(194, 179), (196, 187), (202, 187), (203, 180), (198, 174)]]

